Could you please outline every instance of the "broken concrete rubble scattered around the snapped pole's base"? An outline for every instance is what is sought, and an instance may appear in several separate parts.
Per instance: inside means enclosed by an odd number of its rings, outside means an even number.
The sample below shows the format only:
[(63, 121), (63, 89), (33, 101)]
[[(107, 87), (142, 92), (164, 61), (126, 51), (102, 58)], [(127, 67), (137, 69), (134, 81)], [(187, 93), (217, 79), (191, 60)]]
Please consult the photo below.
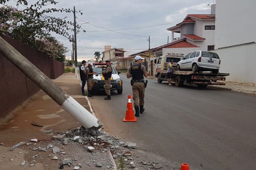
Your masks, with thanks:
[[(47, 169), (114, 169), (120, 165), (126, 169), (162, 169), (163, 162), (152, 161), (136, 152), (136, 143), (125, 142), (103, 131), (98, 131), (95, 136), (84, 127), (78, 127), (63, 133), (56, 133), (53, 140), (41, 141), (30, 139), (29, 142), (20, 142), (13, 149), (21, 145), (23, 150), (30, 150), (26, 160), (20, 166), (36, 166), (40, 162)], [(32, 142), (32, 143), (31, 143)], [(26, 144), (24, 144), (26, 143)], [(145, 150), (146, 151), (146, 150)], [(144, 157), (145, 156), (145, 157)], [(168, 167), (168, 165), (165, 165)], [(163, 168), (164, 169), (164, 168)]]

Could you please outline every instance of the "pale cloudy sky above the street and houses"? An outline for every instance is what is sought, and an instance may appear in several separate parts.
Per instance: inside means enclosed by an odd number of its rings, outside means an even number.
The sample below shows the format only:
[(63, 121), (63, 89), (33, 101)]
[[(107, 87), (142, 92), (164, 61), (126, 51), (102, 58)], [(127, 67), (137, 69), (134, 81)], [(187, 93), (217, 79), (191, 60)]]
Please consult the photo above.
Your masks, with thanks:
[[(10, 3), (15, 0), (11, 0)], [(35, 0), (27, 0), (29, 5)], [(54, 8), (76, 7), (76, 22), (86, 32), (77, 34), (77, 59), (94, 58), (95, 51), (104, 51), (105, 45), (123, 48), (129, 54), (164, 45), (172, 40), (167, 28), (182, 22), (187, 14), (210, 14), (215, 0), (56, 0)], [(50, 6), (49, 6), (50, 7)], [(73, 21), (73, 14), (61, 13)], [(89, 22), (89, 23), (86, 23)], [(70, 32), (70, 34), (73, 34)], [(53, 34), (54, 35), (54, 34)], [(148, 37), (150, 36), (150, 43)], [(69, 51), (72, 43), (54, 35)]]

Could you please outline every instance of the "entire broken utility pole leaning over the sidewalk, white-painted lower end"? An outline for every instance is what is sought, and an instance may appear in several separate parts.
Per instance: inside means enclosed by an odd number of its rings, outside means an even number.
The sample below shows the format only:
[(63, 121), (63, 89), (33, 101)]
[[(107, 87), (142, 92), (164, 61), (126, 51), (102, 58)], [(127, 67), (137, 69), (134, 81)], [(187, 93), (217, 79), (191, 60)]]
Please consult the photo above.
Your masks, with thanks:
[(90, 133), (95, 134), (102, 123), (81, 106), (75, 99), (66, 94), (60, 87), (49, 79), (41, 70), (33, 65), (26, 57), (0, 37), (0, 53), (11, 61), (17, 68), (28, 76), (38, 87), (48, 94), (65, 111), (70, 113)]

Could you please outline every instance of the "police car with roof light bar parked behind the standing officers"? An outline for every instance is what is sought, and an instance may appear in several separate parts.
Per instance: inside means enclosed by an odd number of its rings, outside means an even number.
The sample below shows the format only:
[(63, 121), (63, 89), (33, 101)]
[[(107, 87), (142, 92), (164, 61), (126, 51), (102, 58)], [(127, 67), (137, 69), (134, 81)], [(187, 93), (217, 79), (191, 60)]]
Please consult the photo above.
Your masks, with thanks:
[[(121, 72), (117, 72), (112, 65), (110, 66), (112, 68), (110, 90), (116, 90), (118, 94), (122, 94), (122, 80), (119, 76)], [(93, 75), (93, 92), (105, 91), (105, 81), (102, 75), (102, 71), (104, 71), (106, 67), (107, 65), (105, 64), (105, 62), (93, 63), (93, 71), (97, 73)]]

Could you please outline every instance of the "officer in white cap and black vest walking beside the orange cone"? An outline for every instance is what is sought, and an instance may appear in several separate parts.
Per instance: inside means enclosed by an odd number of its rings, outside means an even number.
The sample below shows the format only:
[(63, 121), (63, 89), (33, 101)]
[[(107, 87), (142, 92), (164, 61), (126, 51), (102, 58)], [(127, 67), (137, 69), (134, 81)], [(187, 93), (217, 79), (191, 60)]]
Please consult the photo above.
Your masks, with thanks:
[(146, 72), (145, 65), (142, 65), (143, 59), (144, 58), (140, 56), (136, 56), (134, 65), (128, 68), (128, 73), (126, 74), (127, 78), (130, 78), (130, 77), (132, 78), (131, 79), (132, 96), (134, 99), (134, 108), (136, 111), (135, 116), (137, 117), (140, 116), (140, 113), (143, 113), (143, 111), (145, 111), (145, 108), (144, 108), (145, 84), (144, 84), (143, 76), (148, 77), (148, 73)]

